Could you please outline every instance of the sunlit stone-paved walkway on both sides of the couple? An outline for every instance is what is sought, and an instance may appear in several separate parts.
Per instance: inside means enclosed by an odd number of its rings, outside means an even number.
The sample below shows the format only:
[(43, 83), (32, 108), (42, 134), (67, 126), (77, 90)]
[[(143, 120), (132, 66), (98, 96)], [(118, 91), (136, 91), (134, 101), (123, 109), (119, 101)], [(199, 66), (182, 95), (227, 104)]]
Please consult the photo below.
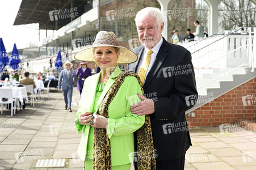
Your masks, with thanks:
[[(35, 168), (38, 159), (60, 158), (67, 159), (65, 169), (83, 169), (77, 155), (81, 134), (73, 122), (79, 92), (74, 88), (72, 113), (64, 110), (61, 92), (42, 97), (13, 117), (6, 109), (0, 114), (0, 169), (64, 169)], [(191, 129), (185, 169), (256, 169), (256, 134), (237, 126), (233, 132)]]

